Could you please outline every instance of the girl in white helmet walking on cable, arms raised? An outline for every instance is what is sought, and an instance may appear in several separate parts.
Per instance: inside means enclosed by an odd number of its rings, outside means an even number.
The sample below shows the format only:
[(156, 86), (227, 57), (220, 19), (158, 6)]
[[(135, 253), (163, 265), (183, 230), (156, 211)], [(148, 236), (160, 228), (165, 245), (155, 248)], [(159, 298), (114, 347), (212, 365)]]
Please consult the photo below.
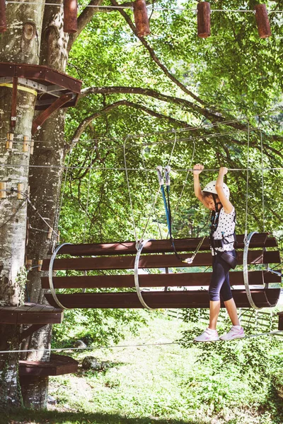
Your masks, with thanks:
[(212, 249), (212, 279), (209, 284), (209, 326), (195, 341), (219, 340), (216, 331), (220, 310), (220, 295), (233, 324), (229, 333), (221, 336), (221, 340), (232, 340), (244, 337), (245, 334), (238, 320), (236, 305), (229, 283), (229, 270), (236, 266), (234, 249), (236, 212), (229, 201), (230, 191), (224, 183), (224, 175), (228, 172), (221, 167), (216, 181), (209, 182), (203, 191), (200, 187), (199, 175), (204, 169), (199, 163), (194, 166), (195, 196), (209, 211), (212, 211), (210, 243)]

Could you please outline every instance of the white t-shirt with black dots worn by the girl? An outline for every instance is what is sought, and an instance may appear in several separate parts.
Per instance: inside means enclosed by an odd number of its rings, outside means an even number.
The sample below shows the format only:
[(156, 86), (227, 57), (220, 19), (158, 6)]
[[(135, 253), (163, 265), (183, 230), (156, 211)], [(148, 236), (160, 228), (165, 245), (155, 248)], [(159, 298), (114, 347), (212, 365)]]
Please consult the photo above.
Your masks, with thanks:
[[(233, 233), (235, 232), (235, 216), (236, 211), (235, 208), (232, 209), (230, 213), (226, 213), (224, 208), (221, 208), (219, 212), (219, 221), (214, 231), (213, 238), (214, 240), (222, 240), (222, 235), (226, 239), (227, 244), (224, 244), (224, 247), (215, 247), (217, 252), (231, 251), (234, 249), (234, 237)], [(227, 237), (229, 236), (229, 237)], [(212, 249), (212, 255), (214, 255), (214, 251)]]

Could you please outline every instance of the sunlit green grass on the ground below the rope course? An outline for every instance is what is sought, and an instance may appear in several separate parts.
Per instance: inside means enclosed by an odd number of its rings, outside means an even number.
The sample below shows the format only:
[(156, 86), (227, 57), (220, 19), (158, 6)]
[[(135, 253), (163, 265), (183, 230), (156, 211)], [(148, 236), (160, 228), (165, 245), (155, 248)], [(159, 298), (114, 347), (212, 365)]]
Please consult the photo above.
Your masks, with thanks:
[[(283, 401), (272, 379), (262, 377), (260, 367), (250, 375), (235, 361), (234, 351), (246, 341), (209, 343), (210, 351), (202, 343), (162, 344), (178, 340), (187, 329), (181, 320), (156, 317), (141, 326), (139, 336), (122, 343), (132, 346), (78, 353), (80, 363), (92, 355), (104, 363), (103, 370), (80, 367), (77, 375), (50, 377), (55, 406), (15, 411), (0, 423), (283, 423)], [(221, 346), (229, 348), (226, 359), (219, 355)]]

